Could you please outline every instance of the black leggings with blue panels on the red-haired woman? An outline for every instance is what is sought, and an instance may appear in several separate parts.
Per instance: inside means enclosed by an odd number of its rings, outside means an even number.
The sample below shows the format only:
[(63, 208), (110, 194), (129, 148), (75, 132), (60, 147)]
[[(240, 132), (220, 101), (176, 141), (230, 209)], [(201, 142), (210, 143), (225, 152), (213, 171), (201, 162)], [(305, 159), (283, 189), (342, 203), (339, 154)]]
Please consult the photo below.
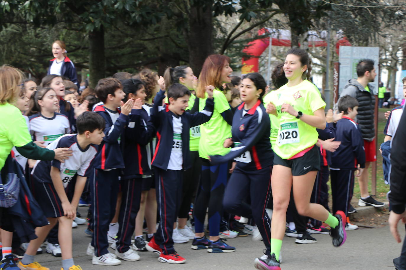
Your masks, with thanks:
[(194, 228), (196, 233), (204, 232), (206, 209), (209, 207), (208, 219), (210, 236), (218, 236), (222, 220), (222, 201), (227, 185), (227, 162), (212, 165), (202, 158), (200, 190), (194, 203)]

